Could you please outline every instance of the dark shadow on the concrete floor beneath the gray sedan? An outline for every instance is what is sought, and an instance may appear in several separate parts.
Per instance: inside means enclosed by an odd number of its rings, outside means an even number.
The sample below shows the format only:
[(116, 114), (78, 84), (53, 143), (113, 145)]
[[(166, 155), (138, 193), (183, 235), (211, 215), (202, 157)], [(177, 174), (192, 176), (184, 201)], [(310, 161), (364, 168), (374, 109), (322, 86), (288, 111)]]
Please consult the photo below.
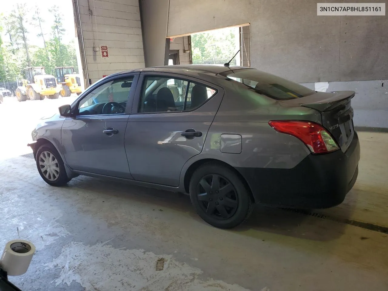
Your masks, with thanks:
[[(164, 208), (189, 213), (193, 219), (207, 225), (194, 211), (190, 197), (185, 194), (85, 176), (74, 178), (68, 187), (92, 191), (95, 199), (98, 199), (99, 195), (121, 197), (128, 200), (128, 203), (135, 199), (142, 203), (151, 204), (155, 209)], [(351, 211), (352, 208), (345, 208), (341, 216), (349, 217)], [(266, 232), (312, 241), (331, 241), (340, 237), (345, 227), (345, 224), (332, 222), (324, 218), (310, 217), (278, 208), (256, 205), (247, 222), (229, 231), (251, 237), (258, 237), (257, 232)]]

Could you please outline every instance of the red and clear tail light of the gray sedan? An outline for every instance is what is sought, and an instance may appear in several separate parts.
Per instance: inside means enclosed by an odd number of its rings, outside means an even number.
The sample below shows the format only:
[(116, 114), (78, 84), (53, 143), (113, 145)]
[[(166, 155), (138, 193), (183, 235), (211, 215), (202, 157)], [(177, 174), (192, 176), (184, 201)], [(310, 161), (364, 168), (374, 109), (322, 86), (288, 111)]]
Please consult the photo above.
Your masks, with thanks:
[(339, 149), (333, 137), (317, 123), (296, 120), (273, 120), (268, 123), (277, 132), (297, 137), (315, 154), (324, 154)]

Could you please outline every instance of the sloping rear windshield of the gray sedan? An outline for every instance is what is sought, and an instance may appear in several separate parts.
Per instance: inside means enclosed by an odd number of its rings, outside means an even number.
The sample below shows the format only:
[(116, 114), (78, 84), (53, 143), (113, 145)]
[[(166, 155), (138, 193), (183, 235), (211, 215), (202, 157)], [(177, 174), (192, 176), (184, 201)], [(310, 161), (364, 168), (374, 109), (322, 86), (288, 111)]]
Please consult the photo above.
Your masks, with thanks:
[(256, 69), (239, 69), (222, 74), (231, 80), (244, 84), (256, 93), (276, 100), (290, 100), (315, 93), (305, 86)]

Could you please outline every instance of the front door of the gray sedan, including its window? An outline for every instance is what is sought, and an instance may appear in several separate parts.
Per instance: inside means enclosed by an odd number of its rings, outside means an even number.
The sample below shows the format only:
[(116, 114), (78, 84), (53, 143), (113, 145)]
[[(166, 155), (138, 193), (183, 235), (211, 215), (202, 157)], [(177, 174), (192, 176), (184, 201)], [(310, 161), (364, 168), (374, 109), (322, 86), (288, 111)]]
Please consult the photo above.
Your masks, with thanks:
[(132, 179), (124, 136), (137, 76), (108, 78), (92, 86), (73, 104), (76, 117), (66, 118), (61, 136), (70, 168)]

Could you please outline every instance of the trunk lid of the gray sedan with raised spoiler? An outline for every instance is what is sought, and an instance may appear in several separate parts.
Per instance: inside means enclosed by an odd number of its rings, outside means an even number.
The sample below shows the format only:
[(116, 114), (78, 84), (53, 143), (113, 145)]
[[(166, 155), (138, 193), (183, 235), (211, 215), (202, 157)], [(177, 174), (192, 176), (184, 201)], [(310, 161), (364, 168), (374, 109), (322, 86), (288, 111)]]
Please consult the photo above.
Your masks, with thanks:
[(331, 133), (341, 151), (345, 152), (354, 135), (354, 113), (350, 104), (354, 94), (354, 91), (317, 92), (284, 102), (288, 105), (299, 105), (319, 111), (322, 116), (322, 125)]

